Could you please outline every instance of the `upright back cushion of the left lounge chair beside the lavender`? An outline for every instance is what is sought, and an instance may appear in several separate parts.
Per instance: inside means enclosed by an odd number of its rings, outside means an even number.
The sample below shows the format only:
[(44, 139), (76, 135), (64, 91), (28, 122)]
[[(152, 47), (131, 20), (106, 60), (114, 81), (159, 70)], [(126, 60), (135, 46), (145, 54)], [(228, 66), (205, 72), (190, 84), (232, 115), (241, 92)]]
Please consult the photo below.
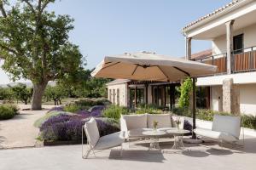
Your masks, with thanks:
[(90, 121), (85, 122), (84, 130), (90, 144), (95, 146), (100, 139), (100, 133), (95, 118), (92, 117), (90, 118)]

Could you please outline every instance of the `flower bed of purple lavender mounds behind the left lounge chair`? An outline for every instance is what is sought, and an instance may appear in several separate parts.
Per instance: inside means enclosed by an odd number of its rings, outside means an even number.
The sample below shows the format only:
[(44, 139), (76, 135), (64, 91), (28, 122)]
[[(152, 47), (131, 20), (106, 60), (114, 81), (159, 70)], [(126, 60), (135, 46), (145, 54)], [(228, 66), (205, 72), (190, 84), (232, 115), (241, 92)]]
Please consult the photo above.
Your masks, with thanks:
[[(96, 117), (101, 136), (118, 132), (119, 123), (113, 118), (103, 117), (104, 109), (105, 105), (94, 105), (90, 109), (79, 107), (78, 111), (67, 112), (65, 107), (55, 107), (35, 122), (35, 126), (40, 129), (38, 139), (48, 145), (81, 143), (82, 127), (90, 117)], [(84, 139), (86, 140), (85, 135)]]

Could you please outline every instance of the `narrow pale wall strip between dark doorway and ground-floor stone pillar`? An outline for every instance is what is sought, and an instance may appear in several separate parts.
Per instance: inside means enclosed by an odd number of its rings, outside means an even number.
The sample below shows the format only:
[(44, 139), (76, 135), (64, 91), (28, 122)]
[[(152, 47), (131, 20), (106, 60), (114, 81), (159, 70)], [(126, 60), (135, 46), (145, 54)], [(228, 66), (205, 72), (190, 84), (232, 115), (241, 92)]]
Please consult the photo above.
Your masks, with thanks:
[(212, 110), (222, 111), (222, 86), (212, 86), (211, 94)]

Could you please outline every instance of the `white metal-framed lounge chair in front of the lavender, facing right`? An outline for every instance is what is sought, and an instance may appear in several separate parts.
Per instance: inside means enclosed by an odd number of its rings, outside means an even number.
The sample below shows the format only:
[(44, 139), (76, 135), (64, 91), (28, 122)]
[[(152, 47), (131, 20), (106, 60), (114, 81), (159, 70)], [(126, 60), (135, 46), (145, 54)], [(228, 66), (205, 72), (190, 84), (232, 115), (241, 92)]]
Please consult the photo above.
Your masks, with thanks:
[[(84, 155), (84, 136), (83, 131), (86, 134), (87, 144), (89, 149)], [(90, 151), (95, 155), (95, 150), (107, 150), (109, 148), (121, 146), (121, 155), (122, 155), (122, 144), (125, 141), (125, 133), (118, 132), (102, 136), (100, 138), (100, 133), (96, 124), (95, 118), (90, 118), (90, 121), (85, 122), (84, 127), (82, 127), (82, 157), (87, 159)]]

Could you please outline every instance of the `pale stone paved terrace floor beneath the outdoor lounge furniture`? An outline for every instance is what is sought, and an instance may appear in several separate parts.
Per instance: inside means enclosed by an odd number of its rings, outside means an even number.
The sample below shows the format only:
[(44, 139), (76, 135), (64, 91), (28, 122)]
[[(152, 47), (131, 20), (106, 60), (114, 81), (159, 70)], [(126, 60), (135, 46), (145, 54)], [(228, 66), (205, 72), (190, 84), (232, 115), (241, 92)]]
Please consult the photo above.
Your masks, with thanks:
[(216, 150), (218, 145), (209, 147), (188, 145), (190, 151), (174, 153), (171, 144), (162, 145), (164, 153), (148, 152), (147, 147), (132, 145), (128, 150), (125, 144), (123, 157), (119, 150), (104, 150), (88, 160), (81, 158), (81, 145), (52, 146), (0, 150), (2, 170), (255, 170), (256, 139), (247, 137), (242, 150)]

